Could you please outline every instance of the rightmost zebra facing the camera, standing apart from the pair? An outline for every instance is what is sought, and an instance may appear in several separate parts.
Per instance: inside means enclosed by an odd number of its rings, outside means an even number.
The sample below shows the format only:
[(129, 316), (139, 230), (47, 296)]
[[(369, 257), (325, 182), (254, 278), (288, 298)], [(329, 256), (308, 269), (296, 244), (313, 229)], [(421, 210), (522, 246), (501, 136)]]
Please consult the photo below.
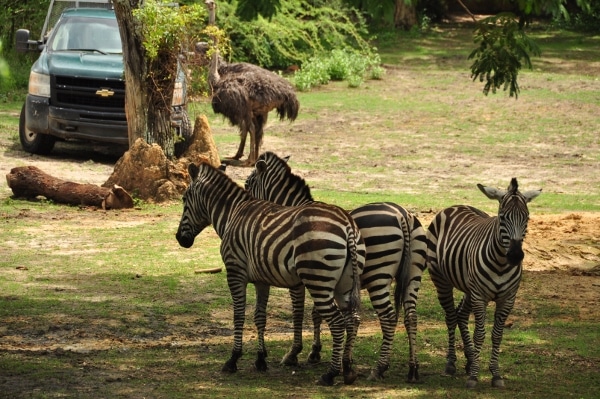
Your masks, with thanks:
[[(486, 307), (490, 301), (494, 301), (496, 310), (490, 372), (492, 386), (503, 388), (498, 355), (504, 322), (515, 303), (521, 282), (524, 258), (522, 244), (529, 219), (527, 203), (540, 195), (542, 190), (521, 193), (516, 178), (511, 180), (506, 191), (481, 184), (477, 187), (489, 199), (499, 201), (498, 215), (490, 217), (479, 209), (465, 205), (440, 211), (427, 229), (427, 260), (448, 327), (445, 373), (454, 375), (456, 372), (455, 333), (458, 324), (467, 358), (466, 371), (469, 377), (466, 385), (467, 388), (477, 386), (479, 355), (485, 338)], [(464, 293), (456, 308), (454, 288)], [(475, 315), (472, 340), (468, 327), (471, 312)]]

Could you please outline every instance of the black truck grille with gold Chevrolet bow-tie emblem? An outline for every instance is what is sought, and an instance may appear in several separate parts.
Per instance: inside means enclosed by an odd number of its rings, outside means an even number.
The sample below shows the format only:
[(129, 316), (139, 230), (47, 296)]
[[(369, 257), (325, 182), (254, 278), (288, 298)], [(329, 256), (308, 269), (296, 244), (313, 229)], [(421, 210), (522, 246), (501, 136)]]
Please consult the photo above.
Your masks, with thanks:
[(51, 84), (54, 88), (52, 90), (53, 105), (75, 106), (79, 109), (98, 112), (125, 111), (125, 82), (123, 80), (53, 76)]

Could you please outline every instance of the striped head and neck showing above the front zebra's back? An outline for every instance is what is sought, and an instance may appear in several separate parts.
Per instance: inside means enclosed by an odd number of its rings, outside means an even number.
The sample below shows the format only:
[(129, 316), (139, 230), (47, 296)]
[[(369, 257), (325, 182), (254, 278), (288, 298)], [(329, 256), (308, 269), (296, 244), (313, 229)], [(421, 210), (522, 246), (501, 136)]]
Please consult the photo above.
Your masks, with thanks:
[(292, 173), (287, 164), (289, 158), (280, 158), (272, 152), (262, 154), (246, 179), (246, 190), (254, 198), (285, 206), (312, 202), (310, 188), (304, 179)]

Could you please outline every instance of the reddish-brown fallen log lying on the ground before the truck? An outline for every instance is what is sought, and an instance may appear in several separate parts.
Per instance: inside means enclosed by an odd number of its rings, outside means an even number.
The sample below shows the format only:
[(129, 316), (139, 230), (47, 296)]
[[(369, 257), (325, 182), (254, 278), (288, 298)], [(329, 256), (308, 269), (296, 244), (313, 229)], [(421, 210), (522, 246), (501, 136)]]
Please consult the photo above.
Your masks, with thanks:
[(112, 188), (94, 184), (73, 183), (50, 176), (36, 166), (12, 168), (6, 182), (17, 198), (35, 198), (39, 195), (52, 201), (102, 209), (133, 208), (131, 195), (116, 184)]

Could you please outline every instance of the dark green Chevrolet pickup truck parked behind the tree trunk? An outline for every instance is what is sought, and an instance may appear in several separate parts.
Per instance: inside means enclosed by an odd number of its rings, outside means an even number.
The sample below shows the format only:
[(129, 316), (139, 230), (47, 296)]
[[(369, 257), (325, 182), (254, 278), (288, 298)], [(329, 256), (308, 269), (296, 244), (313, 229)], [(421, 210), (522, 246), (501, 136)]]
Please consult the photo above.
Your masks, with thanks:
[[(27, 152), (48, 154), (57, 139), (127, 145), (121, 36), (110, 0), (52, 0), (39, 40), (16, 34), (17, 51), (40, 51), (19, 119)], [(181, 68), (180, 68), (181, 69)], [(185, 75), (178, 74), (171, 125), (175, 156), (191, 136)]]

